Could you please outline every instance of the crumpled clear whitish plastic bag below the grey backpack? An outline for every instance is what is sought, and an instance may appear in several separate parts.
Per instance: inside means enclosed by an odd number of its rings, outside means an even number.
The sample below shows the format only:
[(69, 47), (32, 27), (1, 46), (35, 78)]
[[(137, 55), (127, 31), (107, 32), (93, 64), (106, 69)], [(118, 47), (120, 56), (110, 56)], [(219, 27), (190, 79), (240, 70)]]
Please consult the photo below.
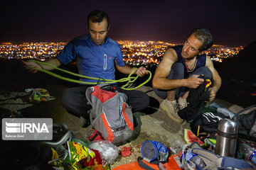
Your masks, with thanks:
[(102, 154), (102, 157), (107, 161), (107, 164), (114, 162), (118, 157), (117, 147), (108, 140), (92, 142), (89, 147), (98, 150), (100, 154)]

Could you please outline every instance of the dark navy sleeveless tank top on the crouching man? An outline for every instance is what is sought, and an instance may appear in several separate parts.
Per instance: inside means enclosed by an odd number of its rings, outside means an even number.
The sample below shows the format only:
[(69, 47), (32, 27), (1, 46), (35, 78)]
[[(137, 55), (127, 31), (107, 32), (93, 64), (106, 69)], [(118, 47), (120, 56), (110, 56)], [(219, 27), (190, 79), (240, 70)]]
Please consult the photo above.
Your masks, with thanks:
[(199, 67), (204, 67), (206, 66), (206, 54), (203, 53), (203, 55), (198, 55), (196, 58), (197, 58), (197, 62), (196, 62), (196, 67), (195, 69), (193, 69), (193, 72), (189, 72), (187, 69), (186, 69), (186, 64), (185, 64), (185, 59), (181, 56), (181, 52), (182, 52), (182, 48), (183, 48), (183, 45), (176, 45), (174, 47), (172, 47), (176, 53), (177, 53), (177, 56), (178, 56), (178, 62), (181, 62), (184, 66), (184, 72), (185, 74), (191, 74), (193, 73), (196, 69), (198, 69)]

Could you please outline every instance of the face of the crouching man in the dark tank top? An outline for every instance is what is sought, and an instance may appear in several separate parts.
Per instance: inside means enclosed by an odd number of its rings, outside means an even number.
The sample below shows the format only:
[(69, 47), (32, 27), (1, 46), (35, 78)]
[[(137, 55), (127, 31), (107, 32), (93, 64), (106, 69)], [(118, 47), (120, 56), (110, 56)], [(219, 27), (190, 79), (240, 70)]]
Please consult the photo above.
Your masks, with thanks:
[(194, 34), (191, 34), (183, 45), (181, 56), (184, 59), (193, 59), (199, 54), (199, 48), (203, 43), (196, 38)]

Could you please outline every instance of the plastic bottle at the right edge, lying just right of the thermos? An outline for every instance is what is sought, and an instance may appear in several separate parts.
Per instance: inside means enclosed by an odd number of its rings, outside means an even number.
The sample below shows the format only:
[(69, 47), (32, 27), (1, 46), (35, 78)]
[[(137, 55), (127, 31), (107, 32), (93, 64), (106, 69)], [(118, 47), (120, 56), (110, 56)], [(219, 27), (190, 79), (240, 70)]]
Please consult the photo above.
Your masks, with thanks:
[(256, 149), (250, 147), (249, 145), (242, 143), (239, 146), (239, 150), (245, 159), (250, 159), (252, 162), (256, 164)]

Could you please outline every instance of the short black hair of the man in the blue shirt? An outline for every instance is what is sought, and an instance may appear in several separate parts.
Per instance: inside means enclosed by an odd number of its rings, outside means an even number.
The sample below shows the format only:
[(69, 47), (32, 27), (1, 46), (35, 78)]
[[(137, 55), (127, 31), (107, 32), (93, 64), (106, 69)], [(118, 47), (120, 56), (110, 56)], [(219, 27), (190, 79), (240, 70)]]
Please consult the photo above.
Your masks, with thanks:
[(95, 10), (89, 13), (87, 17), (87, 24), (89, 27), (89, 20), (92, 21), (92, 23), (101, 23), (103, 19), (107, 19), (107, 28), (110, 26), (110, 18), (107, 16), (107, 13), (101, 10)]

